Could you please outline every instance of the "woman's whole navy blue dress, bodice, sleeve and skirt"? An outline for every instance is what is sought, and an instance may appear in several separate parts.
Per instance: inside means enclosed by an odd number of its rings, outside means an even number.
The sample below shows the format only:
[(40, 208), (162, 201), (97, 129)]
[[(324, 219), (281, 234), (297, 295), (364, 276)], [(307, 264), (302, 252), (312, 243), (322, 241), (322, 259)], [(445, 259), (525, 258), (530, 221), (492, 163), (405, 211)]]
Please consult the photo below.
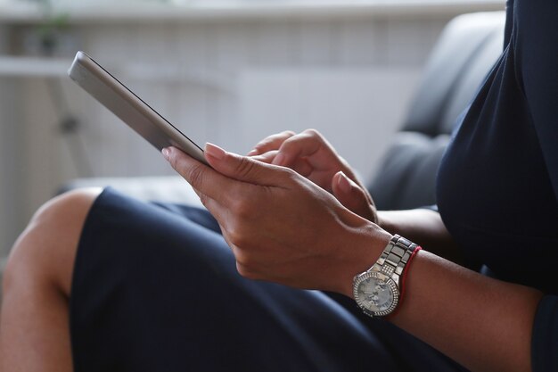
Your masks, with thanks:
[[(508, 7), (505, 53), (439, 171), (439, 211), (470, 260), (540, 288), (535, 371), (558, 370), (558, 2)], [(244, 279), (207, 211), (108, 188), (70, 296), (84, 371), (464, 371), (348, 298)]]

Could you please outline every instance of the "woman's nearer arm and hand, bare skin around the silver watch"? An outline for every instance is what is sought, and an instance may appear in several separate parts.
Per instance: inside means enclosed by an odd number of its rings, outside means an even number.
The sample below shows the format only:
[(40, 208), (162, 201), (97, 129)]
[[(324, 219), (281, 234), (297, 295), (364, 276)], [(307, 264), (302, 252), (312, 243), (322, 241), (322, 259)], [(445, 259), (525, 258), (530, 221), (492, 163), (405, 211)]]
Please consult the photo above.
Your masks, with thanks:
[[(206, 157), (213, 169), (176, 149), (166, 157), (219, 221), (245, 277), (352, 296), (352, 277), (372, 266), (390, 240), (291, 169), (210, 145)], [(407, 285), (406, 300), (391, 319), (398, 327), (474, 371), (530, 370), (541, 293), (430, 252), (416, 256)]]

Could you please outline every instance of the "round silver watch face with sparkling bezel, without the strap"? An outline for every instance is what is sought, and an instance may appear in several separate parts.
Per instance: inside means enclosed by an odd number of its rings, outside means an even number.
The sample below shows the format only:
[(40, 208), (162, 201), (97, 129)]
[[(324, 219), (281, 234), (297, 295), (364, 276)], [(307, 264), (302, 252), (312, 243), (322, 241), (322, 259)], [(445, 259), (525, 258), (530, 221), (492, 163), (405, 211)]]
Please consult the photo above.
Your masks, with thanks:
[(390, 277), (373, 271), (357, 277), (354, 295), (358, 305), (368, 315), (381, 317), (395, 310), (399, 292), (397, 285)]

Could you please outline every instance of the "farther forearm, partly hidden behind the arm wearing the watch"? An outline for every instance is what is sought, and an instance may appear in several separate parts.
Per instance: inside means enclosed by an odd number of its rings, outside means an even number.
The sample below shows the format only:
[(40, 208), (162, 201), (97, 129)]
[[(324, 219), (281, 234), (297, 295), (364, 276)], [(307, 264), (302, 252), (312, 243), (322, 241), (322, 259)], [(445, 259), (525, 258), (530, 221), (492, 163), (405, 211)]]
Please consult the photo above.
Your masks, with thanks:
[(378, 211), (378, 222), (390, 234), (405, 236), (428, 252), (456, 263), (464, 261), (437, 211)]

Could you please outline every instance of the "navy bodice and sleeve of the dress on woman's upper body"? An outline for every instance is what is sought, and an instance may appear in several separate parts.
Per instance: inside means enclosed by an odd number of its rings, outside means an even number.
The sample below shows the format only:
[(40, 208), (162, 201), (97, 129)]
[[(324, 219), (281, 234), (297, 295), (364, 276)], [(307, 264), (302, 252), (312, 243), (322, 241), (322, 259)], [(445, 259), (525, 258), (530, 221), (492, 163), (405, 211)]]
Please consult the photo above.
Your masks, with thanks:
[(547, 293), (533, 366), (556, 371), (558, 311), (549, 303), (558, 293), (558, 2), (507, 6), (504, 54), (447, 149), (437, 201), (470, 260)]

